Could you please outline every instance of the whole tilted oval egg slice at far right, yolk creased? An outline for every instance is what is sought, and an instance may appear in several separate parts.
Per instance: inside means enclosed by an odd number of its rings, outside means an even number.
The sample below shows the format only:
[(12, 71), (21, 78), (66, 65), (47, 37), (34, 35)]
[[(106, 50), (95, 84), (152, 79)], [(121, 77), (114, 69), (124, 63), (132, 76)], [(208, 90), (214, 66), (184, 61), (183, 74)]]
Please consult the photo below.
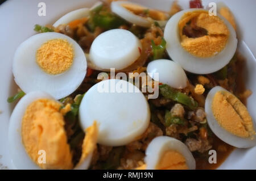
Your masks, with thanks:
[(255, 122), (241, 101), (220, 86), (205, 100), (207, 122), (213, 133), (229, 145), (249, 148), (256, 145)]

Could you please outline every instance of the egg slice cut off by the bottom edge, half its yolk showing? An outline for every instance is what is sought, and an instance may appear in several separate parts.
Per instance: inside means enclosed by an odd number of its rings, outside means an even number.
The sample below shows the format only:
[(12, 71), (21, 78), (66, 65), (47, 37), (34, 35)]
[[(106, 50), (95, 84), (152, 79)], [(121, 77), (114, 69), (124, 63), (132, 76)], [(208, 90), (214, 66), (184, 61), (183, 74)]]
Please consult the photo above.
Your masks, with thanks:
[(144, 161), (150, 170), (196, 169), (195, 158), (187, 146), (168, 136), (159, 136), (150, 142)]

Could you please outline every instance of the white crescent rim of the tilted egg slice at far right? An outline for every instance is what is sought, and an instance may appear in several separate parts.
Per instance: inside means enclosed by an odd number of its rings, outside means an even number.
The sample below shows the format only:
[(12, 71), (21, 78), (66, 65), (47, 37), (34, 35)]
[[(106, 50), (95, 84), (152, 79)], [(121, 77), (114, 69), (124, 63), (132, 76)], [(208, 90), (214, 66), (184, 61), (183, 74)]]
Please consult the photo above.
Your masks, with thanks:
[[(248, 138), (241, 138), (232, 133), (229, 133), (224, 128), (218, 124), (217, 120), (215, 119), (213, 112), (212, 112), (212, 101), (214, 95), (218, 91), (227, 91), (220, 86), (213, 87), (207, 95), (205, 100), (205, 113), (207, 113), (207, 123), (212, 130), (212, 132), (220, 138), (222, 141), (226, 142), (229, 145), (235, 146), (236, 148), (250, 148), (256, 145), (256, 136), (254, 136), (254, 140), (251, 140), (250, 137)], [(228, 92), (228, 91), (227, 91)], [(254, 121), (254, 130), (256, 130), (255, 120)]]

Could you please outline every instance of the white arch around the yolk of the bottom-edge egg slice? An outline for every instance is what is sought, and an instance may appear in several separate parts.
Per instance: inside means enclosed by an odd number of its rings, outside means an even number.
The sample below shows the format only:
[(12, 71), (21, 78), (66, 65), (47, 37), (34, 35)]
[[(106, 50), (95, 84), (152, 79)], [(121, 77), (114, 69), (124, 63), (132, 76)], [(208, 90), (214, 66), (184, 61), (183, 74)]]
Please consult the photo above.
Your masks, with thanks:
[(186, 160), (189, 170), (196, 169), (196, 161), (191, 151), (183, 142), (168, 136), (159, 136), (154, 138), (146, 149), (146, 157), (144, 161), (147, 165), (146, 169), (155, 170), (164, 152), (167, 150), (175, 150)]

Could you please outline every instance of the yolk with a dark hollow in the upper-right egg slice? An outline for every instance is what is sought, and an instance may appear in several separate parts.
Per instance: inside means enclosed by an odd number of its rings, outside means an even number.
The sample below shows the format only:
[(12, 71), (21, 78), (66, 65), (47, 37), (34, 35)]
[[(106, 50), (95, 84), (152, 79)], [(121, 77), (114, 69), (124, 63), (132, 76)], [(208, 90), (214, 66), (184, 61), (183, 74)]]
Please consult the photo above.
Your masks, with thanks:
[(181, 46), (196, 57), (212, 57), (221, 52), (228, 41), (228, 27), (208, 11), (187, 12), (178, 26)]

